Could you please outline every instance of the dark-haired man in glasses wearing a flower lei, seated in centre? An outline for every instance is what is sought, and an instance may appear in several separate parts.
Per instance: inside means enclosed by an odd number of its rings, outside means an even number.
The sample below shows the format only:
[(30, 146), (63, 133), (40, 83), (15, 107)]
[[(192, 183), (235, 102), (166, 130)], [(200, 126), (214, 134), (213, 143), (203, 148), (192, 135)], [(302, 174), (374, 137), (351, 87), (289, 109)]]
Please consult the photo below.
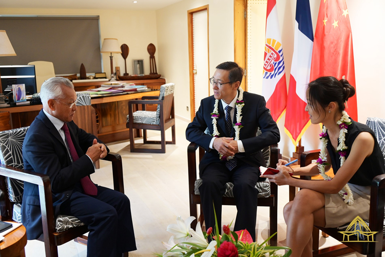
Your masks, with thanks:
[[(210, 78), (214, 96), (201, 101), (186, 129), (187, 140), (206, 150), (199, 163), (202, 178), (199, 192), (206, 228), (215, 227), (213, 203), (221, 226), (222, 195), (226, 182), (231, 181), (238, 210), (234, 230), (247, 229), (255, 241), (258, 199), (255, 185), (259, 167), (265, 166), (261, 150), (279, 142), (279, 130), (264, 98), (239, 88), (243, 69), (237, 63), (224, 62), (216, 68)], [(258, 128), (262, 132), (259, 136)]]

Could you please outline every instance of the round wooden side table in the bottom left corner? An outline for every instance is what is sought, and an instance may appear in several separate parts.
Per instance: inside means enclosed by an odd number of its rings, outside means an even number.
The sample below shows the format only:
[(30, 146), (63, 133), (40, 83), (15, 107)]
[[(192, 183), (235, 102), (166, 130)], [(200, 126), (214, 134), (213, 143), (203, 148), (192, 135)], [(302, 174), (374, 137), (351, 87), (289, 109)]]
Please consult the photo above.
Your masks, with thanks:
[(0, 254), (2, 257), (25, 257), (24, 247), (27, 245), (27, 234), (22, 225), (9, 234), (0, 242)]

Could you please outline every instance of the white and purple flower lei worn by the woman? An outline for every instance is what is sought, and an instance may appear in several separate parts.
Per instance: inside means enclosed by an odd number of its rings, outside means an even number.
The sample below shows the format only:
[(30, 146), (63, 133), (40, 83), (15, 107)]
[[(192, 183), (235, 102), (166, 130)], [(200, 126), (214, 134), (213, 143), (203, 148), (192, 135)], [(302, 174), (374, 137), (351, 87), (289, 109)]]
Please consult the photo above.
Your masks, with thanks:
[[(348, 125), (351, 124), (351, 120), (349, 119), (349, 115), (347, 112), (342, 111), (342, 117), (340, 120), (337, 121), (337, 124), (340, 127), (339, 131), (339, 145), (337, 146), (337, 152), (340, 155), (340, 167), (342, 167), (343, 163), (345, 162), (346, 158), (346, 150), (348, 149), (348, 146), (345, 145), (345, 134), (348, 132), (347, 128)], [(320, 134), (321, 138), (321, 151), (319, 154), (319, 159), (317, 160), (317, 165), (318, 165), (318, 170), (321, 176), (323, 177), (324, 180), (331, 180), (332, 178), (328, 175), (325, 174), (325, 166), (329, 165), (326, 163), (326, 145), (328, 144), (328, 138), (326, 137), (326, 127), (323, 126), (322, 128), (322, 133)], [(345, 204), (353, 205), (353, 193), (350, 190), (348, 184), (345, 185), (342, 190), (340, 190), (339, 195), (342, 196), (342, 199)]]

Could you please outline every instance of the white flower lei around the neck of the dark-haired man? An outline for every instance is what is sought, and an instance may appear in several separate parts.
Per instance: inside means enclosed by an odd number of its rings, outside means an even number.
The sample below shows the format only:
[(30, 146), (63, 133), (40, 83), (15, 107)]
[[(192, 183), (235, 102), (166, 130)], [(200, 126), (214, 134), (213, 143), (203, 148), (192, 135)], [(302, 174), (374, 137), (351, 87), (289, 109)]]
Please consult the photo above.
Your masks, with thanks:
[[(239, 90), (239, 96), (238, 96), (237, 102), (235, 104), (235, 108), (237, 109), (237, 117), (236, 117), (237, 123), (233, 124), (233, 127), (235, 129), (235, 140), (239, 140), (239, 132), (240, 132), (241, 128), (243, 127), (241, 125), (241, 121), (242, 121), (241, 114), (242, 114), (242, 107), (245, 105), (243, 102), (243, 89), (241, 87), (239, 87), (238, 90)], [(217, 119), (219, 118), (218, 102), (219, 102), (219, 100), (216, 99), (215, 104), (214, 104), (213, 113), (211, 113), (211, 118), (213, 119), (213, 128), (214, 128), (214, 133), (211, 136), (213, 136), (213, 137), (219, 137), (220, 136), (220, 133), (218, 132), (218, 128), (217, 128)], [(221, 154), (219, 155), (219, 158), (222, 159)], [(228, 156), (227, 160), (230, 160), (233, 158), (234, 158), (234, 156)]]

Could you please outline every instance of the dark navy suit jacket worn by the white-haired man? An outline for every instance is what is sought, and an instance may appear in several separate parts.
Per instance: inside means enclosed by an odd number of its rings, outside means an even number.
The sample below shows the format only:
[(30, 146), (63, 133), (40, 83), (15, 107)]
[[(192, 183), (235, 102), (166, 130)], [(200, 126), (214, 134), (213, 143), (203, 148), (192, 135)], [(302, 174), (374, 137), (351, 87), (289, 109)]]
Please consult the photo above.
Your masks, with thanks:
[[(23, 143), (24, 169), (49, 176), (55, 217), (59, 215), (60, 205), (72, 194), (76, 183), (95, 172), (85, 153), (97, 137), (82, 130), (73, 121), (67, 125), (79, 155), (79, 159), (73, 163), (62, 137), (43, 110), (32, 122)], [(98, 142), (102, 143), (100, 140)], [(28, 240), (43, 234), (38, 186), (27, 182), (24, 183), (22, 222)]]

